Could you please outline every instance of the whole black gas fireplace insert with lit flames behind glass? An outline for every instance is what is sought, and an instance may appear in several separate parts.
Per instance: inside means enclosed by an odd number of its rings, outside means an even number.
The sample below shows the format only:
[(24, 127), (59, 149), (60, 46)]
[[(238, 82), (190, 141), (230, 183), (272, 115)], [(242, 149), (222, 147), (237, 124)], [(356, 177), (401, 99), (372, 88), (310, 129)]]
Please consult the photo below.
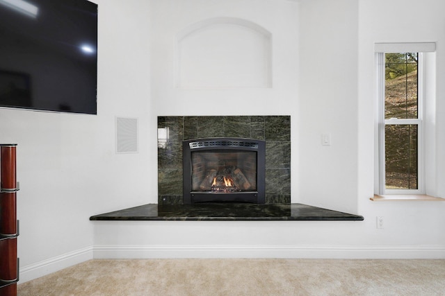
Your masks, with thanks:
[(210, 138), (183, 141), (184, 204), (265, 201), (264, 141)]

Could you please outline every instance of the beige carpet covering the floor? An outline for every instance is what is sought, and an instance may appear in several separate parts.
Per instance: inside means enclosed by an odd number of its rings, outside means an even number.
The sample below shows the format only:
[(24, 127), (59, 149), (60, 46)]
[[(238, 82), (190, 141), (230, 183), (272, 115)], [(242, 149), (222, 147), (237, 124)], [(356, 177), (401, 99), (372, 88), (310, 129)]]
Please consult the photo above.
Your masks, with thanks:
[(18, 295), (445, 295), (445, 260), (92, 260)]

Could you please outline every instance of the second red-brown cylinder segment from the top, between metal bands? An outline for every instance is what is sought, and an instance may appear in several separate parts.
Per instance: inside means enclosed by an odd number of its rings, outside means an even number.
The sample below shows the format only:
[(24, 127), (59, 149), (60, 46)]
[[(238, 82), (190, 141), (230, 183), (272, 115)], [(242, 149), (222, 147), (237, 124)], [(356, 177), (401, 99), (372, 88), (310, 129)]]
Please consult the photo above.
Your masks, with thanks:
[(17, 234), (17, 194), (0, 193), (0, 234)]

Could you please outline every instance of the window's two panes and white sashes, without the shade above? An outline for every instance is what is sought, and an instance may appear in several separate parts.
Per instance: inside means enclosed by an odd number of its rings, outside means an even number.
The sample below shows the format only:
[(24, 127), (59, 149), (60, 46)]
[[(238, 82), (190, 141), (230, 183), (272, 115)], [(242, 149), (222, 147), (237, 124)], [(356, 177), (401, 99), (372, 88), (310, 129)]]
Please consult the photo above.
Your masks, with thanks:
[(422, 53), (380, 53), (380, 193), (423, 193)]

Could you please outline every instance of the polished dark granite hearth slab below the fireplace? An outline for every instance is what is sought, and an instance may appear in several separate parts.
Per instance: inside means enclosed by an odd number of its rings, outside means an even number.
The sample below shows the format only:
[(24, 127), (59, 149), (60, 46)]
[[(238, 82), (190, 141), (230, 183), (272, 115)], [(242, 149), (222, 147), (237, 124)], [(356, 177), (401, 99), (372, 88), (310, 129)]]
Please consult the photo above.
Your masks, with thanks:
[(364, 220), (306, 204), (145, 204), (91, 216), (90, 220)]

